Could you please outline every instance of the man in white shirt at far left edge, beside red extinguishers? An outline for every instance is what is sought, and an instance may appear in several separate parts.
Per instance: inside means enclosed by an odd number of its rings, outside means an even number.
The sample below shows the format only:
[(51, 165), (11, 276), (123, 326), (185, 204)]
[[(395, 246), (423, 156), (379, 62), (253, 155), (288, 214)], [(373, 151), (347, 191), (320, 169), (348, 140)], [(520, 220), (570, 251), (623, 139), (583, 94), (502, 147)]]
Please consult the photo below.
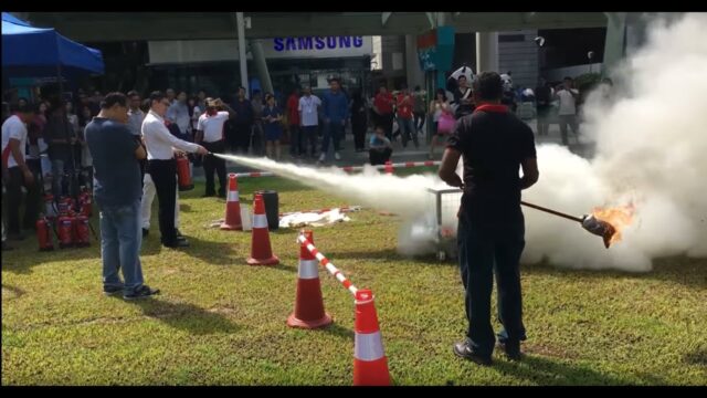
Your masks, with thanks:
[(34, 113), (29, 105), (18, 106), (14, 115), (2, 123), (2, 179), (8, 191), (8, 237), (22, 240), (20, 231), (20, 205), (22, 205), (22, 186), (27, 188), (27, 207), (23, 226), (34, 227), (39, 211), (39, 186), (34, 175), (25, 163), (27, 124), (32, 122)]

